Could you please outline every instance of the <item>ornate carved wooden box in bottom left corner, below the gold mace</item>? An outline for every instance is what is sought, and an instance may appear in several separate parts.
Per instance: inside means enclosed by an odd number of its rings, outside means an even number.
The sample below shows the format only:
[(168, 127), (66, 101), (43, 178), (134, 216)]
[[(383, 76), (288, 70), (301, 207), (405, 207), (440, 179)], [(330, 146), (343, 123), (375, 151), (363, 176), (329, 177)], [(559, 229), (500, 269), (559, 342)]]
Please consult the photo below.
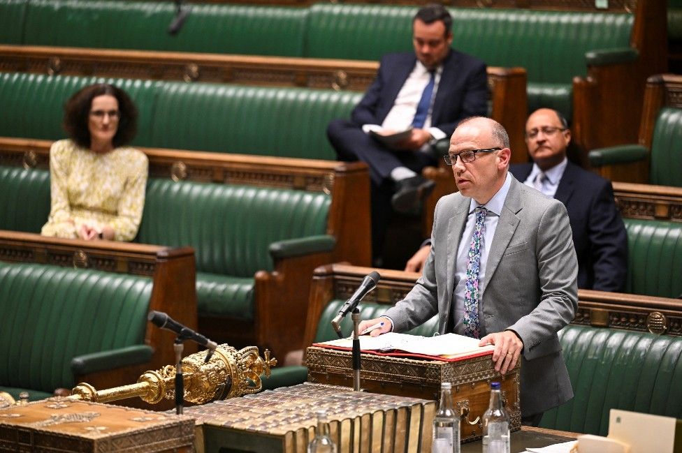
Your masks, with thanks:
[(0, 452), (192, 452), (194, 420), (55, 397), (0, 409)]

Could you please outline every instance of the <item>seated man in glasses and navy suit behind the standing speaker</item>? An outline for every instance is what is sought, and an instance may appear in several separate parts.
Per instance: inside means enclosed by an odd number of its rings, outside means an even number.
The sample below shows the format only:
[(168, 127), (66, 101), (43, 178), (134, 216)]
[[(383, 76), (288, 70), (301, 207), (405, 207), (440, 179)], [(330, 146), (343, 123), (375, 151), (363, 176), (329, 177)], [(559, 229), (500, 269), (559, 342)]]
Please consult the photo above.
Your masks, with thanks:
[[(627, 232), (611, 182), (569, 162), (566, 150), (570, 141), (566, 119), (555, 110), (536, 110), (525, 124), (525, 142), (533, 163), (511, 165), (509, 172), (566, 206), (578, 257), (578, 288), (622, 291), (627, 274)], [(417, 251), (405, 270), (421, 270), (429, 248)]]

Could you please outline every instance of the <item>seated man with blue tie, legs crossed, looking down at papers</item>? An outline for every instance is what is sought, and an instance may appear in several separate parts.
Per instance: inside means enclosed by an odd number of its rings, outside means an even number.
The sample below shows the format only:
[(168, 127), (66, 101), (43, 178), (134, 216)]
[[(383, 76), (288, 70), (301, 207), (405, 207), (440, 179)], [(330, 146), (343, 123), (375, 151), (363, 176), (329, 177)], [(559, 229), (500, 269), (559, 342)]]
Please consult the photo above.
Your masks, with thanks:
[[(451, 28), (444, 6), (421, 8), (412, 20), (414, 53), (385, 55), (351, 120), (336, 119), (327, 128), (340, 161), (363, 161), (370, 167), (375, 258), (391, 207), (419, 214), (433, 190), (433, 181), (419, 175), (440, 159), (430, 145), (449, 138), (461, 119), (487, 111), (486, 65), (450, 48)], [(386, 144), (370, 131), (405, 131), (405, 137)]]

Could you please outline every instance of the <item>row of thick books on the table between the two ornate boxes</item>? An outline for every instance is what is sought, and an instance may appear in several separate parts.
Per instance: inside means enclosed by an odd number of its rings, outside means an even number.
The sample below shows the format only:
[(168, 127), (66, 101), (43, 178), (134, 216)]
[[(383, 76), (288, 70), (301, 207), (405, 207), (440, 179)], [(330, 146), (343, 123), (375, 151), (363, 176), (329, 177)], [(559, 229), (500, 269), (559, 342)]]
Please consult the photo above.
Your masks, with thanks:
[(304, 383), (185, 409), (203, 453), (305, 453), (326, 410), (339, 453), (430, 453), (436, 403)]

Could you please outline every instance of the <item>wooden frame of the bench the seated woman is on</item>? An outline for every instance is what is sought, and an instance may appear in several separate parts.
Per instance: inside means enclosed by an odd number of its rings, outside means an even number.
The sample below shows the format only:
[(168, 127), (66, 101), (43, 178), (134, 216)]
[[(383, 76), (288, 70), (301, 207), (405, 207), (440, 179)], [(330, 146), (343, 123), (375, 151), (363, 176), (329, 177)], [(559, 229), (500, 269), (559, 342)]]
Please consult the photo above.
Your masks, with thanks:
[[(50, 144), (48, 140), (0, 138), (0, 165), (47, 169)], [(358, 265), (370, 263), (370, 183), (365, 163), (173, 149), (140, 150), (149, 158), (152, 177), (324, 191), (331, 195), (327, 234), (336, 237), (335, 250), (277, 259), (273, 272), (257, 272), (254, 321), (200, 317), (199, 330), (211, 339), (229, 338), (236, 346), (267, 346), (275, 357), (284, 357), (289, 350), (303, 346), (303, 332), (291, 320), (305, 319), (313, 270), (337, 260)]]

